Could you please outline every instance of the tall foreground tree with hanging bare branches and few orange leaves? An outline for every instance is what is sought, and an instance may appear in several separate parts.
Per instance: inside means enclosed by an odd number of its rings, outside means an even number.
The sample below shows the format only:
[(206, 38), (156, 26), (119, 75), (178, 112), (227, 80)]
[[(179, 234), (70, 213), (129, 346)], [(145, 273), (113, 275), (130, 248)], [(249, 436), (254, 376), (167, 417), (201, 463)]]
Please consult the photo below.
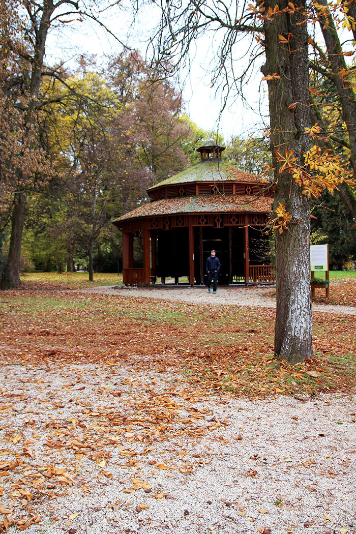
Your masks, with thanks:
[[(276, 232), (276, 323), (274, 350), (280, 359), (294, 364), (310, 358), (312, 309), (310, 292), (310, 196), (322, 187), (333, 189), (336, 171), (320, 177), (308, 161), (318, 148), (309, 149), (310, 101), (308, 94), (308, 33), (305, 0), (276, 2), (257, 0), (247, 6), (212, 0), (159, 3), (161, 22), (154, 54), (171, 72), (187, 58), (194, 40), (204, 32), (221, 34), (215, 50), (212, 81), (223, 74), (227, 87), (235, 90), (246, 79), (254, 59), (265, 55), (262, 70), (268, 84), (270, 138), (274, 163)], [(249, 60), (235, 73), (234, 54), (240, 36), (249, 41)], [(244, 45), (245, 50), (248, 45)], [(248, 54), (248, 51), (246, 52)], [(157, 57), (158, 55), (158, 57)], [(162, 61), (163, 58), (163, 61)], [(213, 66), (213, 61), (211, 62)], [(326, 158), (326, 155), (323, 156)], [(321, 158), (321, 156), (320, 156)], [(337, 163), (335, 162), (335, 168)], [(333, 167), (334, 168), (334, 167)], [(338, 167), (339, 168), (339, 167)], [(316, 176), (318, 175), (318, 176)], [(329, 182), (328, 182), (329, 180)], [(330, 182), (332, 185), (330, 185)]]

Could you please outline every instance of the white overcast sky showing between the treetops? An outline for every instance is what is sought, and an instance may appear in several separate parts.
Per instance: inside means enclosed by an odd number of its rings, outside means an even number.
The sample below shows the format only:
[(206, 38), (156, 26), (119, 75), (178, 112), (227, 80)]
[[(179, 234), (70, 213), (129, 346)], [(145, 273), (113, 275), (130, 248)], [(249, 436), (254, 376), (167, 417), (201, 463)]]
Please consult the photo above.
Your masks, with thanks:
[[(73, 19), (73, 17), (71, 17)], [(105, 23), (112, 32), (126, 41), (127, 28), (130, 26), (132, 15), (116, 9), (110, 17), (106, 17)], [(133, 30), (129, 43), (137, 48), (145, 56), (145, 35), (149, 35), (152, 29), (153, 17), (142, 17), (139, 33)], [(146, 21), (146, 23), (145, 23)], [(75, 29), (73, 30), (73, 26)], [(183, 98), (186, 102), (186, 111), (199, 127), (209, 130), (217, 130), (227, 141), (232, 135), (247, 136), (263, 127), (260, 111), (266, 114), (266, 106), (260, 108), (260, 100), (265, 101), (266, 82), (260, 82), (262, 75), (257, 72), (256, 78), (246, 88), (245, 95), (248, 97), (249, 106), (243, 106), (241, 99), (233, 101), (226, 106), (219, 123), (221, 108), (221, 95), (215, 95), (215, 88), (211, 88), (211, 80), (208, 65), (207, 48), (210, 37), (204, 37), (205, 42), (196, 47), (195, 58), (191, 69), (185, 70), (181, 76)], [(80, 53), (112, 54), (120, 52), (122, 46), (108, 36), (94, 22), (77, 22), (61, 25), (59, 30), (51, 30), (46, 46), (46, 58), (51, 64), (61, 59), (66, 59), (69, 68), (73, 68), (75, 57)], [(264, 117), (268, 121), (268, 117)]]

